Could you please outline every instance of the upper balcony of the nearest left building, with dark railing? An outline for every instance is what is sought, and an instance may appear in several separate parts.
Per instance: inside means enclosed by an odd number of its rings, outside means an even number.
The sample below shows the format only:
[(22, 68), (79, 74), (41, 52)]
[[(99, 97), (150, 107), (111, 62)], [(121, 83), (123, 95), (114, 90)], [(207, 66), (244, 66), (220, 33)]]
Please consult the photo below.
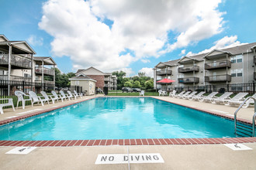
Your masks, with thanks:
[[(8, 68), (9, 67), (9, 55), (1, 54), (0, 55), (0, 66)], [(31, 60), (22, 59), (20, 56), (11, 55), (11, 65), (12, 69), (32, 69)]]

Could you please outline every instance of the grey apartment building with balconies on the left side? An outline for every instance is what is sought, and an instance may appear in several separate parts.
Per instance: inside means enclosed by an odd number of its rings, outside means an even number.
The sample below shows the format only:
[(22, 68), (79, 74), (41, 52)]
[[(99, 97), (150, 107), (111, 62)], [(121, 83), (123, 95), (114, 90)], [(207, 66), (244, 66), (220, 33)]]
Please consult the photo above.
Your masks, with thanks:
[[(16, 83), (24, 82), (22, 83), (23, 87), (26, 84), (39, 90), (54, 89), (54, 68), (47, 69), (45, 67), (47, 65), (55, 67), (54, 59), (51, 57), (36, 57), (35, 54), (36, 52), (26, 41), (9, 41), (4, 35), (0, 35), (0, 80), (11, 80)], [(52, 81), (44, 81), (44, 75), (53, 76)], [(34, 83), (36, 86), (34, 86)], [(10, 88), (9, 85), (8, 93)], [(21, 86), (13, 88), (19, 90)]]

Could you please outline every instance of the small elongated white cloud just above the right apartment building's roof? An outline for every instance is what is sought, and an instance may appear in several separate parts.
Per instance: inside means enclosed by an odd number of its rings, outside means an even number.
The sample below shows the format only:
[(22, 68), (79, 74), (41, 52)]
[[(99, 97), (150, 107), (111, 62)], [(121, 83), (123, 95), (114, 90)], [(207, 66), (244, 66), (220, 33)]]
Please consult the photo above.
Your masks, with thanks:
[(213, 51), (213, 49), (227, 49), (227, 48), (234, 47), (234, 46), (240, 46), (240, 45), (243, 45), (246, 43), (241, 43), (241, 42), (237, 41), (237, 36), (224, 36), (222, 39), (217, 40), (213, 44), (215, 44), (215, 45), (209, 49), (204, 49), (199, 53), (189, 52), (189, 53), (187, 53), (186, 56), (194, 56), (196, 54), (209, 53), (209, 52)]

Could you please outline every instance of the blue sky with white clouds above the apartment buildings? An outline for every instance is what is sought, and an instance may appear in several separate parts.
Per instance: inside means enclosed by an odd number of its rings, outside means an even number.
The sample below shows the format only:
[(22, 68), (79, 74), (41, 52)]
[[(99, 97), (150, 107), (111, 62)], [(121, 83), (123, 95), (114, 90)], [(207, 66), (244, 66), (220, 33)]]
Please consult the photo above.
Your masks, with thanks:
[(0, 0), (0, 34), (51, 56), (62, 73), (90, 66), (153, 76), (160, 62), (256, 42), (255, 0)]

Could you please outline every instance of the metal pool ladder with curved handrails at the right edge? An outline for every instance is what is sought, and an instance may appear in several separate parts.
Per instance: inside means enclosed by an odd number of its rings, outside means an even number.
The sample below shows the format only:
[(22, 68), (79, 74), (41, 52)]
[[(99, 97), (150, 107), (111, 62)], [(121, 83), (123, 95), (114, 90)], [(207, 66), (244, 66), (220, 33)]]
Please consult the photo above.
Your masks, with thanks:
[[(247, 100), (253, 99), (254, 100), (254, 116), (252, 117), (252, 126), (241, 124), (237, 122), (237, 113), (241, 107), (247, 102)], [(255, 119), (256, 119), (256, 99), (254, 97), (247, 97), (242, 104), (237, 108), (234, 113), (234, 125), (235, 125), (235, 134), (241, 137), (254, 137), (255, 135)]]

